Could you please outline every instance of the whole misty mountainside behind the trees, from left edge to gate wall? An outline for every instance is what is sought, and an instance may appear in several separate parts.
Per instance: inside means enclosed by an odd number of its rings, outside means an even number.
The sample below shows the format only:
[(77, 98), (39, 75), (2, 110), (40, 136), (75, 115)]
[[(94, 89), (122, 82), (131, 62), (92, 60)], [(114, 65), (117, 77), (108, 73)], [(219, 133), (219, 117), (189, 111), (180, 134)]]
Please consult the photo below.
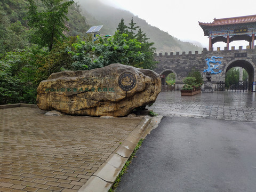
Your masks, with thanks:
[[(36, 0), (35, 2), (38, 6), (38, 11), (45, 10), (40, 0)], [(3, 39), (6, 39), (5, 44), (7, 44), (6, 46), (9, 47), (9, 50), (13, 48), (13, 42), (17, 42), (16, 44), (20, 48), (29, 43), (21, 41), (22, 39), (27, 39), (22, 36), (29, 35), (27, 31), (28, 26), (24, 19), (27, 6), (27, 0), (1, 0), (0, 2), (0, 32), (4, 32), (0, 34), (0, 41), (3, 42)], [(76, 36), (78, 34), (85, 35), (87, 29), (94, 25), (103, 25), (101, 29), (102, 34), (114, 35), (118, 23), (122, 18), (126, 25), (129, 25), (133, 18), (134, 22), (147, 34), (149, 42), (155, 43), (154, 47), (156, 47), (156, 52), (188, 52), (202, 50), (202, 47), (179, 41), (177, 38), (157, 27), (148, 25), (147, 21), (134, 16), (129, 11), (102, 4), (99, 0), (75, 1), (75, 3), (69, 7), (68, 18), (69, 21), (67, 21), (66, 25), (69, 31), (66, 31), (65, 34), (69, 36)], [(20, 21), (21, 25), (25, 28), (17, 24), (17, 21)], [(12, 23), (16, 24), (11, 27)], [(13, 37), (12, 40), (10, 37)]]

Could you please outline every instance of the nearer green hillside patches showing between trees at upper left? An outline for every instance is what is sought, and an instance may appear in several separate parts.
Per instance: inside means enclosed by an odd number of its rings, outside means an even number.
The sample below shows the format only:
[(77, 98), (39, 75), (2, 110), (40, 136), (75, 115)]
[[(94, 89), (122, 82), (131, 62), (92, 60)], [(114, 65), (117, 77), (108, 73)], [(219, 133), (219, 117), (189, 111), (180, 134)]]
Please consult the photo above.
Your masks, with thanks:
[[(38, 12), (45, 11), (45, 7), (40, 0), (35, 2)], [(15, 48), (22, 49), (29, 45), (29, 36), (33, 32), (29, 30), (26, 20), (28, 5), (27, 0), (0, 1), (0, 54), (5, 51), (12, 51)], [(66, 26), (69, 31), (66, 30), (65, 34), (71, 36), (85, 34), (89, 25), (81, 14), (79, 4), (72, 4), (67, 16), (69, 20), (66, 21)]]

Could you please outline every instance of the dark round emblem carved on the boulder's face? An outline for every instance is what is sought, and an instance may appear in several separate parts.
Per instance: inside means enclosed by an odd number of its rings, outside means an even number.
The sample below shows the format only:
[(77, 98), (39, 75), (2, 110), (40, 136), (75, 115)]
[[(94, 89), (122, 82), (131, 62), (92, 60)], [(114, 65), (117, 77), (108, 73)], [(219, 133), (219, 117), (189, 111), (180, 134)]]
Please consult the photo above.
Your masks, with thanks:
[(125, 72), (119, 76), (119, 87), (124, 91), (131, 91), (136, 85), (136, 77), (130, 72)]

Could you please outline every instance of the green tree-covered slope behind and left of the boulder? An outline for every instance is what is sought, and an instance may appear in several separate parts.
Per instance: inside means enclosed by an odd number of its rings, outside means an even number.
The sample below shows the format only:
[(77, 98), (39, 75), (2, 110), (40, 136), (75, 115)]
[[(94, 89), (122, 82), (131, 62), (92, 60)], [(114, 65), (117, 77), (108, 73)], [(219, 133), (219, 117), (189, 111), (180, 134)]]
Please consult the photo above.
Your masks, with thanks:
[(111, 63), (155, 68), (154, 43), (132, 20), (119, 23), (109, 38), (92, 39), (80, 12), (67, 0), (0, 2), (0, 105), (36, 103), (38, 84), (64, 70)]

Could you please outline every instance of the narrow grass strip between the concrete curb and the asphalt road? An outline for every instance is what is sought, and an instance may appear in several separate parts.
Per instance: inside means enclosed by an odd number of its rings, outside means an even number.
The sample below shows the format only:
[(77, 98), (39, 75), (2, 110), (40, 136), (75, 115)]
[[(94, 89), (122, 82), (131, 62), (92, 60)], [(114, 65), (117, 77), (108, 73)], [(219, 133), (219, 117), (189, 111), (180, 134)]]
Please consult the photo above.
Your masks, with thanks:
[(123, 169), (121, 170), (121, 172), (119, 173), (119, 175), (117, 176), (115, 182), (113, 183), (113, 185), (111, 186), (111, 188), (108, 190), (108, 192), (114, 192), (114, 190), (116, 189), (116, 187), (119, 185), (119, 182), (121, 181), (121, 177), (124, 175), (124, 173), (127, 173), (127, 169), (129, 167), (129, 165), (132, 163), (132, 159), (135, 156), (137, 150), (140, 148), (142, 142), (145, 139), (140, 139), (140, 141), (138, 142), (137, 146), (135, 147), (135, 149), (132, 152), (132, 155), (129, 157), (129, 159), (127, 160), (127, 162), (124, 164)]

